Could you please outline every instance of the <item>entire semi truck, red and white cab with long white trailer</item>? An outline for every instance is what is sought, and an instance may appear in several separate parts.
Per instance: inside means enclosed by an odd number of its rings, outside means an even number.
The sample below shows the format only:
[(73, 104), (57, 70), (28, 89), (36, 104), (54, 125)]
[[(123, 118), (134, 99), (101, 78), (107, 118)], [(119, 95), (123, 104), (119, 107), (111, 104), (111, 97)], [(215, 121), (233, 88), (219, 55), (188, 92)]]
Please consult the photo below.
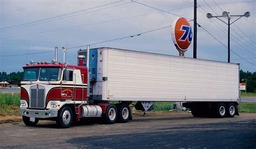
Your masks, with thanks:
[(89, 117), (126, 123), (134, 102), (144, 112), (154, 102), (176, 101), (194, 117), (239, 115), (239, 64), (87, 46), (78, 51), (78, 65), (55, 56), (23, 69), (20, 114), (28, 126), (55, 120), (68, 128)]

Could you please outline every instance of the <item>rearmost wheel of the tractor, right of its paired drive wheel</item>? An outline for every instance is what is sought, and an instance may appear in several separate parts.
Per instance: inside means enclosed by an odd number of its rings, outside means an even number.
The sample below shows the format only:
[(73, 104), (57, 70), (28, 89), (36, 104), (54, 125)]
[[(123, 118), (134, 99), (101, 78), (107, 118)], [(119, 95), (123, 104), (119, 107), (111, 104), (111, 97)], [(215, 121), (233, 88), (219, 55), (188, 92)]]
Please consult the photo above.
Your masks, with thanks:
[(130, 118), (130, 107), (127, 104), (120, 104), (117, 108), (118, 121), (120, 123), (127, 123)]

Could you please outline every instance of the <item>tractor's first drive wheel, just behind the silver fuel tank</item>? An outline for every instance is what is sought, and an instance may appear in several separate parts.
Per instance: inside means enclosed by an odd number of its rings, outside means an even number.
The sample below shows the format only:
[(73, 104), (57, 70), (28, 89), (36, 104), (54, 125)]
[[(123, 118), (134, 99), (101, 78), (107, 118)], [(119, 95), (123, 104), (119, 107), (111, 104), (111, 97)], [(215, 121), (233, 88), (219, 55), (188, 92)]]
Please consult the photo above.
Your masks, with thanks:
[(114, 124), (117, 121), (117, 107), (116, 105), (109, 104), (103, 115), (106, 124)]

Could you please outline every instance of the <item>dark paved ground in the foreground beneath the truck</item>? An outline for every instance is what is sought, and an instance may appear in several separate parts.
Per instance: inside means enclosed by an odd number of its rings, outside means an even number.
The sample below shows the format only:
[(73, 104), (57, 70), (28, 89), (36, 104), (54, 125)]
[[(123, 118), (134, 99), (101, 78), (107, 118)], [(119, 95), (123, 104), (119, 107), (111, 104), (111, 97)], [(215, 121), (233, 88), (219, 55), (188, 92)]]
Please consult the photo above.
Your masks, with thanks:
[(0, 125), (0, 148), (255, 148), (256, 114), (234, 118), (194, 118), (190, 113), (140, 114), (125, 124), (85, 120), (68, 129), (51, 121), (36, 127)]

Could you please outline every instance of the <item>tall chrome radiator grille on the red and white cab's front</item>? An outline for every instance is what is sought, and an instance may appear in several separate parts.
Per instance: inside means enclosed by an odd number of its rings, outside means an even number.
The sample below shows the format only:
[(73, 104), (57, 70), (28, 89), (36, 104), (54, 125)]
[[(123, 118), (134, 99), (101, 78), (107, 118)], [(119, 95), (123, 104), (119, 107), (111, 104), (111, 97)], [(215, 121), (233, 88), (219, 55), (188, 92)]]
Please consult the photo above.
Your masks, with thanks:
[(30, 107), (42, 109), (45, 107), (45, 89), (44, 86), (31, 86), (30, 89)]

